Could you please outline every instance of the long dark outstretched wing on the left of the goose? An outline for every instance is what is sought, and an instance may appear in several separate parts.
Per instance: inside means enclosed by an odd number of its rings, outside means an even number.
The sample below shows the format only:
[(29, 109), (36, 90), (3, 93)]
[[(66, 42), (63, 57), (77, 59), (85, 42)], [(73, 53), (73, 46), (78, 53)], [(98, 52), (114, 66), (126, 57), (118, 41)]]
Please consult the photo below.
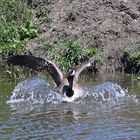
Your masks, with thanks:
[(26, 66), (36, 71), (48, 71), (54, 79), (57, 86), (61, 84), (63, 73), (61, 70), (50, 60), (44, 60), (40, 57), (32, 55), (15, 55), (7, 58), (8, 64)]

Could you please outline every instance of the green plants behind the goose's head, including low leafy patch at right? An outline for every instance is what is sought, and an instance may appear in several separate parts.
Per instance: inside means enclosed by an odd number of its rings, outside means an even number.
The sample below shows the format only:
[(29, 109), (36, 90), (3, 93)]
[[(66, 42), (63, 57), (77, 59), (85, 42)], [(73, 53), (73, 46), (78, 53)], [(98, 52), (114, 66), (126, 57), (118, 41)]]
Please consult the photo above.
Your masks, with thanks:
[(44, 53), (49, 60), (56, 62), (64, 71), (74, 67), (83, 59), (92, 61), (101, 60), (101, 50), (94, 47), (81, 48), (78, 41), (62, 34), (56, 41), (57, 47), (53, 47), (47, 39), (42, 40)]

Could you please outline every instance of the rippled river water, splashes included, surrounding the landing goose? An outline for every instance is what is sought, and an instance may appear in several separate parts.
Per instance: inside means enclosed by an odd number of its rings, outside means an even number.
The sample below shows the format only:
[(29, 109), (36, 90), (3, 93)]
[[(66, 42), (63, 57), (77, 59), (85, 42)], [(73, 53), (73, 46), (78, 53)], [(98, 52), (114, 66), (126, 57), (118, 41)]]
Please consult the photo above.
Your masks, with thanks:
[(0, 139), (140, 139), (140, 81), (135, 76), (82, 75), (81, 83), (88, 87), (86, 96), (64, 103), (39, 79), (14, 90), (15, 80), (1, 71)]

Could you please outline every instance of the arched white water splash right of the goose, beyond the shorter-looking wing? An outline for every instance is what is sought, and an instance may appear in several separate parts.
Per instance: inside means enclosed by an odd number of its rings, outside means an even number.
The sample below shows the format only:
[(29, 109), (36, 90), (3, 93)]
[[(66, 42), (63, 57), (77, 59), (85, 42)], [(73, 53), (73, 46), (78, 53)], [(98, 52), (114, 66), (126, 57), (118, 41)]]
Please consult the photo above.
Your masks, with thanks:
[(94, 88), (90, 88), (86, 98), (90, 98), (90, 100), (97, 103), (109, 104), (139, 102), (136, 96), (130, 95), (126, 89), (112, 82), (105, 82)]

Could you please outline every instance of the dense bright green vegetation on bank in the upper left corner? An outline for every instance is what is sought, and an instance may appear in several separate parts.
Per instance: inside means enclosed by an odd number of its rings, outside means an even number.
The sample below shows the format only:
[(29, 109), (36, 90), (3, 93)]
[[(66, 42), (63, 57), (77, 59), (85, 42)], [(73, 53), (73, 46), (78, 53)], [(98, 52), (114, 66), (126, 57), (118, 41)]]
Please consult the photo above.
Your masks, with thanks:
[(20, 53), (28, 39), (37, 36), (27, 1), (0, 1), (0, 55)]

